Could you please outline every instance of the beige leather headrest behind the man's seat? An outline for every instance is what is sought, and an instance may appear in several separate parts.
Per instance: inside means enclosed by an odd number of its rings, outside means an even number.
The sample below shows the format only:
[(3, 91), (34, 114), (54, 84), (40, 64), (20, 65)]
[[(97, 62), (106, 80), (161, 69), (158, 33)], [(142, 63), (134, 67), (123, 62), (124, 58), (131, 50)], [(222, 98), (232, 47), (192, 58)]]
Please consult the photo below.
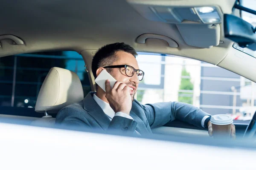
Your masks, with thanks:
[(73, 71), (53, 67), (38, 94), (35, 111), (39, 113), (57, 113), (67, 105), (79, 102), (84, 92), (79, 77)]

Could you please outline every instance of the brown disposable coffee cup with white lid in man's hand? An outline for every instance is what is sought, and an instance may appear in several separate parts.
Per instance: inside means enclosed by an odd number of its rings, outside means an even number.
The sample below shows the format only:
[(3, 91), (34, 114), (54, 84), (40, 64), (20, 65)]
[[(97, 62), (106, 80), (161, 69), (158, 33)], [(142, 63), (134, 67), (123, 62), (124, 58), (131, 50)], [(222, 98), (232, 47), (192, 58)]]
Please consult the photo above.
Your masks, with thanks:
[(226, 114), (211, 116), (212, 135), (214, 138), (230, 137), (233, 119)]

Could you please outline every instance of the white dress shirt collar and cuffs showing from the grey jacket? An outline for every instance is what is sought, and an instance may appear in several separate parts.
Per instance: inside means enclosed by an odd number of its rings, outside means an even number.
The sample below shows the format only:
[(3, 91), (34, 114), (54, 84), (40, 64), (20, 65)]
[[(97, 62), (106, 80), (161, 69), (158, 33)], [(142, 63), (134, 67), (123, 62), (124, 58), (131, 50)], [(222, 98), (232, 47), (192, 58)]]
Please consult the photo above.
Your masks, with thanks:
[[(113, 111), (113, 109), (110, 107), (110, 105), (107, 102), (104, 102), (98, 96), (96, 96), (96, 94), (93, 94), (93, 99), (99, 105), (99, 107), (102, 108), (102, 111), (108, 116), (108, 118), (110, 120), (112, 120), (114, 116), (122, 116), (122, 117), (133, 120), (133, 118), (130, 115), (126, 114), (126, 113), (123, 113), (123, 112), (116, 112), (115, 113), (115, 111)], [(205, 121), (205, 119), (207, 119), (207, 117), (209, 117), (209, 116), (204, 116), (203, 117), (203, 119), (201, 121), (202, 127), (204, 127), (204, 121)], [(136, 131), (136, 133), (137, 133), (137, 131)]]

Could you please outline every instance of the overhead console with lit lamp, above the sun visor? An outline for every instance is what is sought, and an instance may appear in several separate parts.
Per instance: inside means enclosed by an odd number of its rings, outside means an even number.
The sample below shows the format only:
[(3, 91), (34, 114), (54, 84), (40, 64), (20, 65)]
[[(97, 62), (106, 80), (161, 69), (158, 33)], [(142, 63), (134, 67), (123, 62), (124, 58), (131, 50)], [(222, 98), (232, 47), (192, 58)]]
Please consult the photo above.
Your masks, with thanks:
[(137, 11), (148, 20), (165, 23), (218, 24), (221, 23), (221, 10), (215, 6), (180, 7), (152, 6), (150, 4), (133, 4)]

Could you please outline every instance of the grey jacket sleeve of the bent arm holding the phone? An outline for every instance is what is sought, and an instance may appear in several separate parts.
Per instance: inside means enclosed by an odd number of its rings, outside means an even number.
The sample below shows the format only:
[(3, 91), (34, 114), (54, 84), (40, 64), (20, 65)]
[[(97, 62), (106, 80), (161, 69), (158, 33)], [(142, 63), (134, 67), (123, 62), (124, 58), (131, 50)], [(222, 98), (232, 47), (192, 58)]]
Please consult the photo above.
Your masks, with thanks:
[[(95, 121), (93, 123), (96, 124), (97, 122)], [(60, 125), (61, 127), (68, 127), (74, 130), (97, 130), (97, 128), (95, 128), (95, 126), (92, 125), (92, 122), (89, 122), (87, 120), (85, 114), (81, 112), (80, 109), (72, 107), (65, 107), (58, 112), (56, 116), (56, 124)], [(112, 121), (110, 122), (110, 125), (108, 126), (107, 131), (134, 133), (136, 125), (137, 122), (132, 119), (128, 119), (122, 116), (114, 116)]]

